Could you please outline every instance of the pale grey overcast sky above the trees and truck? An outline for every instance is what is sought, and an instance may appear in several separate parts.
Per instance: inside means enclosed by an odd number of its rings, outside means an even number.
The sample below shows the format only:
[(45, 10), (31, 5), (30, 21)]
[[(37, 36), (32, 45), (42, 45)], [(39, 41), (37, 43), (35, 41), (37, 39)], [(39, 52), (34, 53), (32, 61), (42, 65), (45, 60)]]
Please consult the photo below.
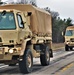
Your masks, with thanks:
[[(9, 0), (9, 1), (16, 2), (16, 0)], [(61, 18), (70, 17), (71, 19), (74, 20), (74, 0), (36, 0), (36, 1), (38, 7), (42, 8), (49, 7), (51, 10), (58, 12)]]

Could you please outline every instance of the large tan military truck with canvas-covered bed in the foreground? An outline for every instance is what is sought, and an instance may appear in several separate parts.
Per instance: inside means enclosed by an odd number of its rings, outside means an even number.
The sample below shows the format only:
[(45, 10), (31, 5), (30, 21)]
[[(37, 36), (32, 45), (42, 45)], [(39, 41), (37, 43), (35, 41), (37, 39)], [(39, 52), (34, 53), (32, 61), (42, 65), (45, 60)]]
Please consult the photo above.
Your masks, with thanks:
[(33, 69), (33, 57), (49, 65), (52, 52), (51, 14), (32, 5), (0, 6), (0, 63), (22, 73)]

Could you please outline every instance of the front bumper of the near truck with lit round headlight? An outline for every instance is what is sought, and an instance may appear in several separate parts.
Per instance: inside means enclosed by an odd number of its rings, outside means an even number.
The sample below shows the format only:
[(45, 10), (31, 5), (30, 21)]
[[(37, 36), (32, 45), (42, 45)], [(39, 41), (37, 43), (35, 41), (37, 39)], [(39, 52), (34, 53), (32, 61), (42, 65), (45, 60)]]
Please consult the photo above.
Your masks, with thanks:
[(5, 61), (17, 60), (19, 58), (20, 51), (17, 49), (8, 47), (0, 47), (0, 63)]

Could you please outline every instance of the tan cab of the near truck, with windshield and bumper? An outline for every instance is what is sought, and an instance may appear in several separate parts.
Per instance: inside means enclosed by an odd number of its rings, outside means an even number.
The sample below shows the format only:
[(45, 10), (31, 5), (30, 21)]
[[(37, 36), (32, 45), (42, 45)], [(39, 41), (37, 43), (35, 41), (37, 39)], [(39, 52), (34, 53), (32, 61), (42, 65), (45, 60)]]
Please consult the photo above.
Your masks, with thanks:
[(27, 15), (18, 10), (0, 10), (1, 62), (17, 59), (23, 53), (21, 51), (23, 38), (31, 39), (31, 31), (26, 25), (26, 18)]

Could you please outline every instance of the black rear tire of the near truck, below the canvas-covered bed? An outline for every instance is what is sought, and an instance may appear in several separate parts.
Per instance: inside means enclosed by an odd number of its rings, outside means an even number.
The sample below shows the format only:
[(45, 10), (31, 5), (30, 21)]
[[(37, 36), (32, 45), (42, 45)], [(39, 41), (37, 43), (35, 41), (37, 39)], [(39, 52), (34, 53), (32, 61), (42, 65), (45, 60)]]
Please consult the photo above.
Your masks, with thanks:
[(46, 46), (44, 53), (40, 54), (40, 62), (42, 66), (47, 66), (50, 63), (49, 47)]

